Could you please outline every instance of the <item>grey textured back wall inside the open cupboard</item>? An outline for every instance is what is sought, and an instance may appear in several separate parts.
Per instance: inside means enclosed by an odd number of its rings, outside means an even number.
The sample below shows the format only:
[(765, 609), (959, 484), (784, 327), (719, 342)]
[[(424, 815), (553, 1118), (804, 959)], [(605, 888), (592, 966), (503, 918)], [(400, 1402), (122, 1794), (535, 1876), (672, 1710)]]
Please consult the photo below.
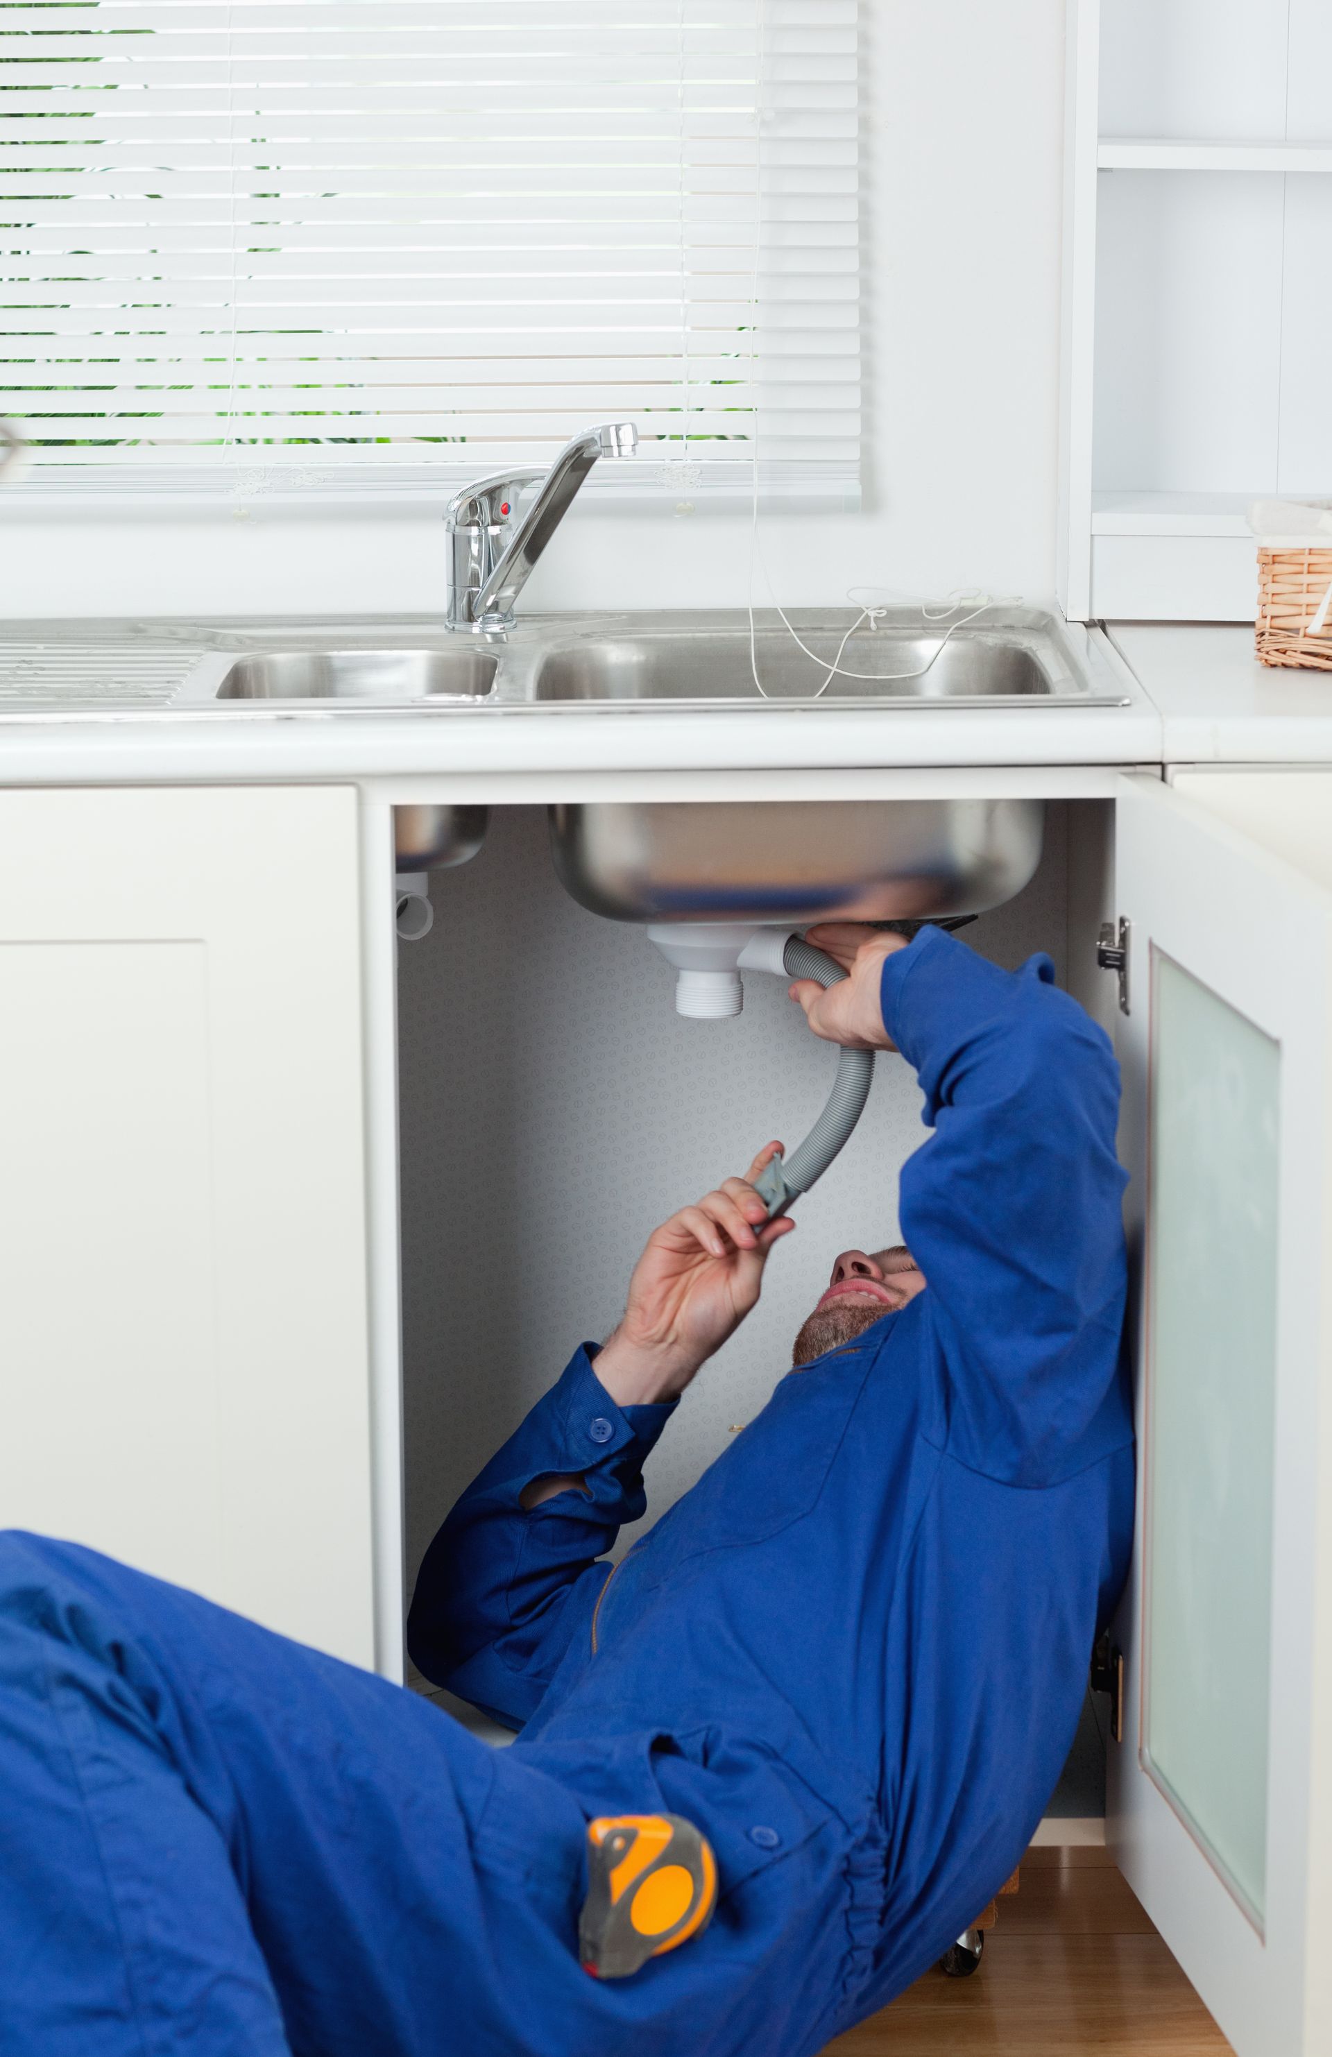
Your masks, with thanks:
[[(399, 959), (409, 1582), (456, 1493), (571, 1349), (615, 1325), (656, 1222), (771, 1135), (798, 1144), (835, 1070), (777, 979), (746, 977), (738, 1020), (680, 1020), (641, 930), (557, 882), (541, 808), (497, 808), (481, 856), (436, 872), (432, 897), (434, 932)], [(964, 936), (1003, 965), (1048, 950), (1063, 979), (1061, 806), (1032, 885)], [(763, 1407), (837, 1251), (896, 1236), (919, 1105), (906, 1063), (880, 1057), (763, 1302), (662, 1438), (647, 1518)]]

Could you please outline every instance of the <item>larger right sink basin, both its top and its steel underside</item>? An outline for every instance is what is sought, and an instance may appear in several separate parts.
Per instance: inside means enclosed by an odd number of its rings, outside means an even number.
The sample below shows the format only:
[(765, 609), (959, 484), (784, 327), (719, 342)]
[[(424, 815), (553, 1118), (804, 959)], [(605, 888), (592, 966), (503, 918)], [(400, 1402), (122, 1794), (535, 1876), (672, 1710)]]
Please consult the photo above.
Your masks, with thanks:
[[(974, 623), (931, 623), (919, 609), (882, 609), (869, 623), (847, 609), (800, 613), (793, 627), (800, 640), (761, 615), (752, 648), (742, 613), (645, 617), (596, 636), (551, 629), (532, 697), (861, 710), (1122, 697), (1079, 669), (1063, 623), (1038, 609), (993, 609)], [(983, 913), (1028, 885), (1044, 837), (1040, 800), (588, 802), (549, 813), (565, 889), (615, 922)]]

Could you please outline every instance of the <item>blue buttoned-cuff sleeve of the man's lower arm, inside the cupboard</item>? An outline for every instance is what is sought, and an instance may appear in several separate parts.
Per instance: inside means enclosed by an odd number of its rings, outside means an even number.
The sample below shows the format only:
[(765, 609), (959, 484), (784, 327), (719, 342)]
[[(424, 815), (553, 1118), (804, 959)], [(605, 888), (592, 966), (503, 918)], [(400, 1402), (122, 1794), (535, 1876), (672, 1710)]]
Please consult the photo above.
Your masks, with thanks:
[[(559, 1382), (467, 1487), (417, 1574), (407, 1648), (436, 1685), (520, 1728), (536, 1709), (571, 1639), (590, 1631), (623, 1522), (645, 1506), (643, 1460), (674, 1401), (617, 1407), (584, 1343)], [(522, 1506), (547, 1475), (569, 1487)]]

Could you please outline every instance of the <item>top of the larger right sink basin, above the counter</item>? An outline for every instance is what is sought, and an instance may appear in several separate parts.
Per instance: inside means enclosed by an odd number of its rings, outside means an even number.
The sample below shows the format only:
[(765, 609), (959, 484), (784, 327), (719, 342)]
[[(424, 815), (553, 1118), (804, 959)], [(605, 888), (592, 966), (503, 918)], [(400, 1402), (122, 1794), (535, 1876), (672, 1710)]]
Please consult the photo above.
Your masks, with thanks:
[[(919, 609), (884, 609), (876, 623), (855, 611), (793, 615), (800, 638), (771, 613), (758, 615), (750, 658), (748, 619), (740, 611), (713, 617), (650, 621), (625, 634), (559, 638), (532, 675), (539, 701), (810, 701), (985, 703), (1087, 701), (1036, 611), (989, 611), (976, 623), (946, 615), (935, 627)], [(948, 634), (948, 623), (962, 625)], [(847, 634), (851, 631), (851, 634)], [(804, 648), (802, 648), (804, 644)], [(837, 664), (837, 671), (830, 666)], [(758, 675), (758, 687), (754, 685)]]

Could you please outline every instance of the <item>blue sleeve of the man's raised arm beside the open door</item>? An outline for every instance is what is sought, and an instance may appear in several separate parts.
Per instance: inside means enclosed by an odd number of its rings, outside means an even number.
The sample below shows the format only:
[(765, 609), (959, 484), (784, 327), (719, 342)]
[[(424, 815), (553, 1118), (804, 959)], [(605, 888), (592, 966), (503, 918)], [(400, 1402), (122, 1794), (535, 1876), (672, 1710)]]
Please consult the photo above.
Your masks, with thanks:
[(948, 1448), (1011, 1485), (1124, 1440), (1118, 1063), (1048, 957), (1001, 971), (943, 930), (884, 961), (884, 1026), (933, 1138), (902, 1168), (902, 1238), (946, 1366)]

